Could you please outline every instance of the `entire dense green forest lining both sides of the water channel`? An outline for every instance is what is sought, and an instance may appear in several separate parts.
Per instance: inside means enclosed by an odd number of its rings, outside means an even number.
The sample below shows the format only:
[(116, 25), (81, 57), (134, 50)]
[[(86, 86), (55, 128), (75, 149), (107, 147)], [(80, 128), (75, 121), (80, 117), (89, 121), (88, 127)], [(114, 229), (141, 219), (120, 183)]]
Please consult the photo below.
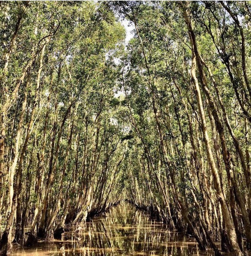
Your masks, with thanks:
[(0, 7), (1, 256), (125, 199), (251, 250), (251, 2)]

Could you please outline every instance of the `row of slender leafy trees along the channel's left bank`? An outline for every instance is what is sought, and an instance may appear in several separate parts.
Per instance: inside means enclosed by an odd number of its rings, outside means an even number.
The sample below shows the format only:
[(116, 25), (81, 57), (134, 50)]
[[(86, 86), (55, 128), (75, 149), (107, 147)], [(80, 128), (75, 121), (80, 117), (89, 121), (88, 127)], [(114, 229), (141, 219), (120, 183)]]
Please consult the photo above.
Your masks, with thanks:
[(0, 20), (6, 255), (11, 242), (51, 240), (121, 200), (125, 131), (112, 99), (125, 31), (92, 2), (1, 2)]

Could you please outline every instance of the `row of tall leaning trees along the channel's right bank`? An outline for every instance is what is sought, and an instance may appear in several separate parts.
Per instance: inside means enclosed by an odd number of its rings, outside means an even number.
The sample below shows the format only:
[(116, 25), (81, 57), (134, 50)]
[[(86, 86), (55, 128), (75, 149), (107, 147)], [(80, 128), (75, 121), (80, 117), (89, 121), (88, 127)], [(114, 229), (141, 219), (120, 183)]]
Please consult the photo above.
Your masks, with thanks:
[[(127, 194), (201, 250), (251, 246), (249, 2), (124, 2)], [(221, 242), (221, 248), (217, 243)]]

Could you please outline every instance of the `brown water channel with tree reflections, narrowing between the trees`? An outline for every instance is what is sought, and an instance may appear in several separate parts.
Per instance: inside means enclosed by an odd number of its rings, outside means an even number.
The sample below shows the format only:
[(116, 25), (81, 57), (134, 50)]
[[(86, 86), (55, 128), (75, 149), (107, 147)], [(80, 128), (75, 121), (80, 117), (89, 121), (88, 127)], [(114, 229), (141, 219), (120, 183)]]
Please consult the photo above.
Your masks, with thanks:
[[(63, 250), (64, 247), (64, 250)], [(61, 241), (15, 250), (12, 256), (214, 255), (201, 252), (192, 238), (172, 232), (144, 211), (121, 203), (87, 222), (82, 230), (64, 233)]]

